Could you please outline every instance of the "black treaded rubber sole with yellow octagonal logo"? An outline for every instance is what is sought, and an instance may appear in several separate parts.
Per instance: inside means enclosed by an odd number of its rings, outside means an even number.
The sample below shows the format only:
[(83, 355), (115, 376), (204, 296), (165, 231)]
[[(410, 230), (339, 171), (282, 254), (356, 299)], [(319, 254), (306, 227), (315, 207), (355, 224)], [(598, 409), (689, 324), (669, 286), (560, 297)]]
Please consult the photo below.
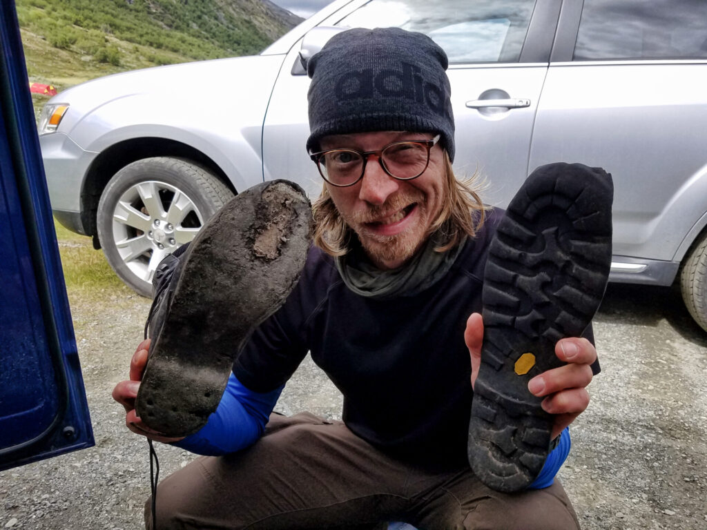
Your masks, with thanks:
[(527, 383), (563, 364), (560, 338), (597, 311), (612, 257), (611, 175), (556, 163), (515, 195), (489, 247), (484, 346), (469, 422), (469, 464), (494, 490), (527, 487), (542, 470), (553, 418)]

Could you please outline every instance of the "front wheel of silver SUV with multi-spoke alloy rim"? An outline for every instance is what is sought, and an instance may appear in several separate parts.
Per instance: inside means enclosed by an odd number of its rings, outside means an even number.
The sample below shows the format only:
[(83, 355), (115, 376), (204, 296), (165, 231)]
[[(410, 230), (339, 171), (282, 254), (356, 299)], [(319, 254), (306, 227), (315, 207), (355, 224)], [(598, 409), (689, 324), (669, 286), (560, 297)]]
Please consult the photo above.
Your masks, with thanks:
[(98, 203), (98, 238), (108, 263), (137, 293), (152, 296), (159, 262), (194, 239), (233, 192), (180, 158), (145, 158), (117, 172)]

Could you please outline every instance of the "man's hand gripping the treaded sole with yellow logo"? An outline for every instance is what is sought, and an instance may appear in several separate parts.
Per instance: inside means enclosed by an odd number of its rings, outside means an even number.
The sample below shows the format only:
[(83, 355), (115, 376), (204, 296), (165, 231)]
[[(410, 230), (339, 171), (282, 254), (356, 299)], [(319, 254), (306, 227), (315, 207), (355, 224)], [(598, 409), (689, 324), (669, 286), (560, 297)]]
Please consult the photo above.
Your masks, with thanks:
[[(464, 341), (472, 358), (472, 388), (481, 365), (481, 343), (484, 341), (484, 322), (479, 313), (467, 320)], [(528, 390), (538, 397), (545, 397), (542, 408), (555, 414), (551, 437), (554, 439), (589, 405), (585, 387), (592, 381), (591, 365), (597, 360), (597, 351), (586, 338), (562, 338), (555, 346), (555, 355), (568, 363), (547, 370), (528, 382)]]

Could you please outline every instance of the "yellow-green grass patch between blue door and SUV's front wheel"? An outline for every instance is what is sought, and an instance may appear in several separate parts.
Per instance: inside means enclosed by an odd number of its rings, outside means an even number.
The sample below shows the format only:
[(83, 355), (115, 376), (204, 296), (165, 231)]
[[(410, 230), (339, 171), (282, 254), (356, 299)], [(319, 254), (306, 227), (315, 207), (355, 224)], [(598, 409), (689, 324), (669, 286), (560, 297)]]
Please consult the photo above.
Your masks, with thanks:
[(89, 300), (105, 297), (107, 290), (115, 290), (116, 294), (132, 293), (110, 268), (103, 252), (93, 249), (90, 237), (66, 230), (56, 220), (54, 228), (57, 230), (66, 290)]

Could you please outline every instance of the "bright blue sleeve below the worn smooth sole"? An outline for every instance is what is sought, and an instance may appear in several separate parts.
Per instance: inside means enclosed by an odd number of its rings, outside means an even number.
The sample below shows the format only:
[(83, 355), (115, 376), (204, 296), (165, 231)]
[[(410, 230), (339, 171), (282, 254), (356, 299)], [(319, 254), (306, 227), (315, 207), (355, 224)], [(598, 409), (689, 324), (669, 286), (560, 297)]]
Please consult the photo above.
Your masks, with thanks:
[(284, 385), (265, 393), (254, 392), (243, 386), (232, 373), (221, 402), (206, 425), (173, 445), (210, 456), (248, 447), (262, 436), (283, 388)]

